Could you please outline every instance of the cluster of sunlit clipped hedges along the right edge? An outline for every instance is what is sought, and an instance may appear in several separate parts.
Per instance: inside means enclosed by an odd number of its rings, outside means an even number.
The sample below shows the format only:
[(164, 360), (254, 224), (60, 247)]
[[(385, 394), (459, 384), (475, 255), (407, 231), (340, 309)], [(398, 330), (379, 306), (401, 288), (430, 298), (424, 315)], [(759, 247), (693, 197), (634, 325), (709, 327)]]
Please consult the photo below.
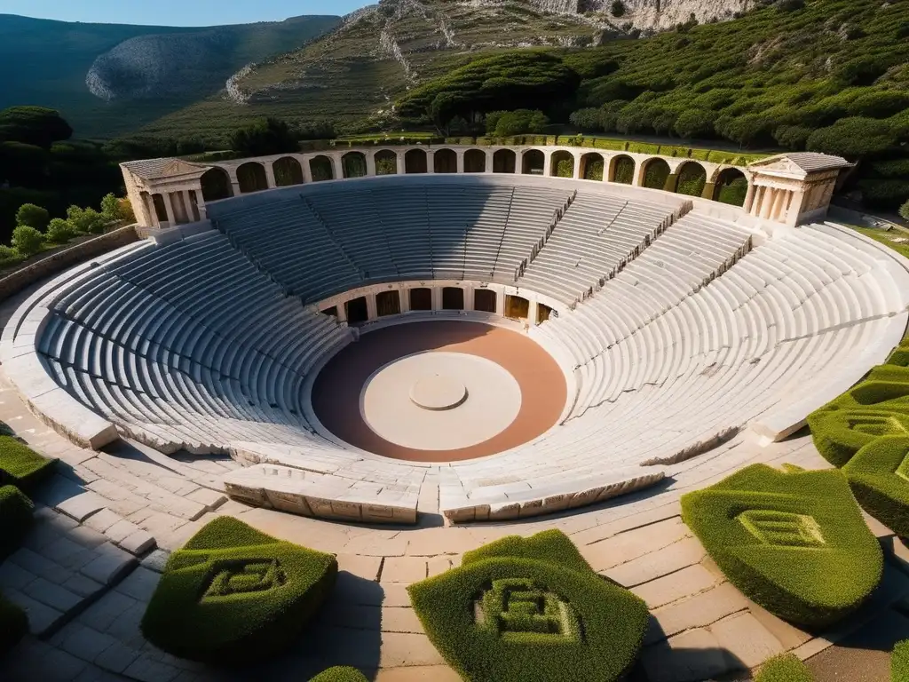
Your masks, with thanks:
[(814, 444), (840, 466), (868, 514), (909, 537), (909, 346), (808, 416)]

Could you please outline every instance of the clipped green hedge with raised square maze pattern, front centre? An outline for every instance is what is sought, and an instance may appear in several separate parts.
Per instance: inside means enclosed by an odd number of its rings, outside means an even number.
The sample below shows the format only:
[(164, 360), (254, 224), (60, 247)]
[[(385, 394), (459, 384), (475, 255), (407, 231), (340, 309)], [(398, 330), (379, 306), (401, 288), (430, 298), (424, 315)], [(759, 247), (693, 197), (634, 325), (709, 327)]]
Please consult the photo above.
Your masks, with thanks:
[(504, 537), (408, 588), (426, 634), (470, 682), (612, 682), (634, 665), (644, 601), (561, 531)]

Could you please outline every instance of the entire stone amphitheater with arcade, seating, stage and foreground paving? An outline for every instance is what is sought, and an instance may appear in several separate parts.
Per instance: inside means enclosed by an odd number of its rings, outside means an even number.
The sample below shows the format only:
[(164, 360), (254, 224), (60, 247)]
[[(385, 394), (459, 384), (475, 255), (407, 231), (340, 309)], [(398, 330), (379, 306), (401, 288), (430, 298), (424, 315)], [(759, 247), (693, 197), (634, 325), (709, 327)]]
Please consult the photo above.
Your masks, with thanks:
[[(644, 186), (654, 159), (633, 158), (623, 184), (611, 170), (584, 179), (591, 154), (614, 165), (590, 150), (500, 163), (498, 149), (452, 148), (448, 173), (413, 151), (376, 175), (376, 153), (358, 150), (360, 177), (350, 152), (321, 155), (337, 178), (325, 182), (316, 155), (282, 157), (298, 165), (290, 182), (275, 180), (278, 157), (124, 164), (147, 238), (7, 304), (3, 418), (70, 466), (45, 516), (107, 533), (129, 574), (73, 617), (59, 607), (53, 637), (10, 674), (49, 652), (69, 661), (67, 642), (91, 635), (135, 656), (75, 654), (85, 665), (67, 679), (85, 666), (222, 678), (151, 647), (135, 622), (116, 630), (109, 603), (147, 601), (156, 557), (215, 514), (331, 551), (342, 575), (379, 587), (338, 597), (306, 657), (381, 680), (458, 678), (405, 585), (545, 528), (651, 607), (649, 680), (830, 646), (730, 591), (678, 500), (755, 462), (827, 466), (806, 416), (904, 336), (906, 262), (824, 222), (844, 160), (702, 164), (703, 196), (685, 196)], [(523, 158), (537, 153), (540, 172)], [(551, 175), (564, 154), (574, 177)], [(671, 189), (688, 162), (657, 160)], [(262, 191), (243, 190), (249, 164)], [(748, 181), (744, 206), (711, 200), (730, 170)], [(225, 198), (205, 201), (213, 172)]]

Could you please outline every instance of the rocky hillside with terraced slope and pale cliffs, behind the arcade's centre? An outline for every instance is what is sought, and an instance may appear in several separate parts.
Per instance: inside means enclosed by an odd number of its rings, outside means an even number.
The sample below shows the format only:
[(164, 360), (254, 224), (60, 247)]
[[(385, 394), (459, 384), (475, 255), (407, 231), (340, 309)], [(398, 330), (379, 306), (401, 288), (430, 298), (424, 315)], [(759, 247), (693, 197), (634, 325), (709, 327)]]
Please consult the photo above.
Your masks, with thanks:
[[(773, 0), (381, 0), (294, 52), (248, 65), (225, 90), (145, 128), (153, 135), (224, 140), (237, 125), (275, 115), (340, 125), (384, 120), (414, 85), (478, 55), (580, 47), (678, 25), (733, 18)], [(618, 16), (616, 16), (618, 15)], [(201, 125), (205, 122), (205, 127)]]

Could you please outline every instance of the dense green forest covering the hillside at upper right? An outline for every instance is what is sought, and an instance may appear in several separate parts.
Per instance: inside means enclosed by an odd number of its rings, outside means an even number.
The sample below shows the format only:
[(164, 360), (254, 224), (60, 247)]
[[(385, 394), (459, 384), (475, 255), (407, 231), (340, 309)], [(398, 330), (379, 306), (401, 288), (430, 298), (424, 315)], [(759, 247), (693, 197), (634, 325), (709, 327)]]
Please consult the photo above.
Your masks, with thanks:
[(866, 203), (909, 197), (909, 0), (789, 0), (583, 50), (486, 56), (412, 89), (405, 127), (540, 108), (587, 133), (725, 140), (862, 161)]

